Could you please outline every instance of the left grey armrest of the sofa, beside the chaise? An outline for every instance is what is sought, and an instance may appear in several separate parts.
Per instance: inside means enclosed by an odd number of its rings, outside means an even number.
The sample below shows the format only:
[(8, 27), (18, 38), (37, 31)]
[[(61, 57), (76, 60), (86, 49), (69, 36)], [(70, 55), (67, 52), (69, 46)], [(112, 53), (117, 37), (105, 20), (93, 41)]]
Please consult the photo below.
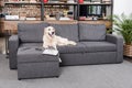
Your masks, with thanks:
[(16, 68), (16, 52), (19, 48), (19, 37), (18, 35), (11, 35), (9, 37), (9, 64), (10, 68)]

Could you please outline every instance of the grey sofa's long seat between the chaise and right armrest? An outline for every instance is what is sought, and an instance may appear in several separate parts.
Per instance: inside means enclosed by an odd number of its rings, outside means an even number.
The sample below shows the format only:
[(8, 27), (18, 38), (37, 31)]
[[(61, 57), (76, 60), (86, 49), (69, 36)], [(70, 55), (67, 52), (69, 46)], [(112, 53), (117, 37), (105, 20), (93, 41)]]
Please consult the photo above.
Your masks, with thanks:
[(91, 52), (114, 52), (116, 44), (109, 42), (79, 42), (77, 45), (59, 46), (61, 54), (69, 53), (91, 53)]

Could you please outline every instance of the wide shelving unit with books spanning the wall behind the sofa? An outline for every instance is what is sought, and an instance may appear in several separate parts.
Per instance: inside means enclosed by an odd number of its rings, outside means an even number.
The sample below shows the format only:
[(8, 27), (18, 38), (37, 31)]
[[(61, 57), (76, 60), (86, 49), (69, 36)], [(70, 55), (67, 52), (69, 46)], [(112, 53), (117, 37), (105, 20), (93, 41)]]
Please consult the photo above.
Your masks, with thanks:
[[(48, 0), (46, 3), (43, 0), (35, 2), (34, 0), (6, 1), (3, 12), (8, 15), (18, 15), (19, 19), (14, 21), (78, 20), (91, 23), (99, 23), (100, 21), (100, 23), (105, 24), (107, 22), (108, 29), (112, 26), (112, 21), (109, 19), (112, 15), (112, 0), (84, 0), (82, 3), (79, 3), (79, 0), (74, 1)], [(6, 21), (12, 20), (6, 19)]]

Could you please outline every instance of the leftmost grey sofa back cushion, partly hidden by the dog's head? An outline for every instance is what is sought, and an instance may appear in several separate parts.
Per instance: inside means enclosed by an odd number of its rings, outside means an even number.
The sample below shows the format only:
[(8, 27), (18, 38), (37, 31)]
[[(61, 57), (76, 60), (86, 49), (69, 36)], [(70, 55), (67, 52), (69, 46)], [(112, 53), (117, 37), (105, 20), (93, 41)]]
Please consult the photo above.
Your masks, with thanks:
[(43, 42), (44, 28), (47, 23), (19, 23), (18, 34), (20, 41), (23, 43)]

